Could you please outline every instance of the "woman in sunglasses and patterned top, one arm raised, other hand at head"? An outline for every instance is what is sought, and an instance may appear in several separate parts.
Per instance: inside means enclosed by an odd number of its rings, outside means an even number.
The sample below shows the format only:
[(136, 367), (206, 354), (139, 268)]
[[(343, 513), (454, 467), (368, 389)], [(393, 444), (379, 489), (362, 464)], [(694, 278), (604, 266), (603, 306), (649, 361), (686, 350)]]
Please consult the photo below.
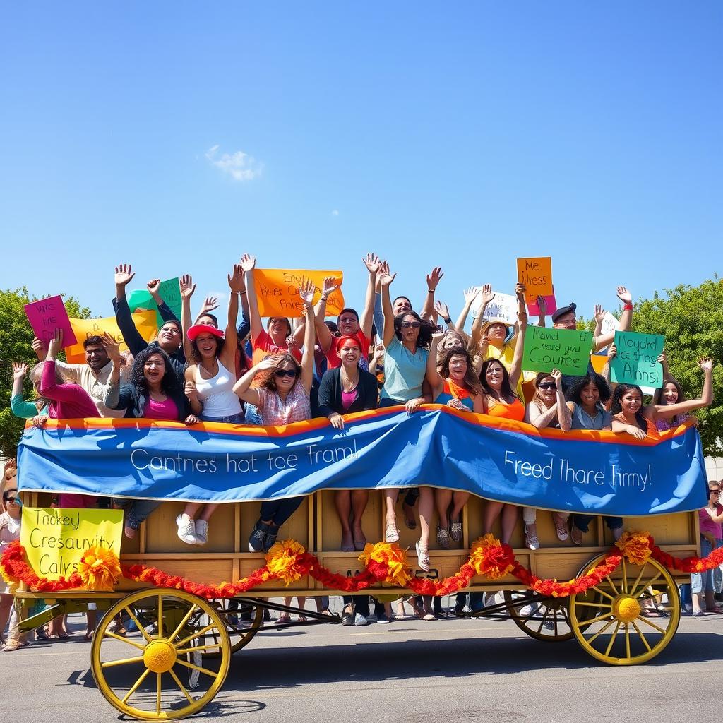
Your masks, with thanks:
[[(304, 302), (304, 354), (301, 364), (291, 354), (267, 356), (249, 369), (236, 385), (234, 392), (244, 402), (257, 407), (261, 422), (268, 427), (281, 427), (312, 418), (309, 395), (314, 379), (314, 312), (316, 288), (311, 281), (299, 286), (299, 298)], [(257, 375), (263, 381), (257, 387), (252, 382)], [(301, 505), (302, 497), (266, 500), (249, 537), (249, 552), (268, 552), (276, 542), (278, 529)]]

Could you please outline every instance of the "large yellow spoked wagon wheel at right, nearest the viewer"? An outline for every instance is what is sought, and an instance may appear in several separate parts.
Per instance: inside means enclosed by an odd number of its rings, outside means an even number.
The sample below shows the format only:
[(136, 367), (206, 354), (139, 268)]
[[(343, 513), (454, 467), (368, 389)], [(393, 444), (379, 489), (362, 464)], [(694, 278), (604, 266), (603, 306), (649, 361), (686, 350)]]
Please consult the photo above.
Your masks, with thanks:
[(680, 623), (677, 585), (655, 560), (631, 565), (623, 558), (615, 573), (587, 594), (570, 596), (570, 622), (578, 643), (594, 658), (610, 665), (647, 662), (667, 646)]

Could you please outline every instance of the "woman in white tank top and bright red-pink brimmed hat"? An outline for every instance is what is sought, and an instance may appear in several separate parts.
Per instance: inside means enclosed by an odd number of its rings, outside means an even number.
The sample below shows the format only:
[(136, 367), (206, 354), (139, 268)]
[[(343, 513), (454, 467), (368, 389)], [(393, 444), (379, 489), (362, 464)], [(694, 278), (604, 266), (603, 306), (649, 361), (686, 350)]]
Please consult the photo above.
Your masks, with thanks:
[[(244, 414), (239, 397), (234, 394), (236, 372), (236, 317), (239, 315), (239, 294), (245, 293), (244, 273), (234, 265), (228, 276), (231, 296), (228, 300), (226, 334), (210, 324), (197, 324), (186, 331), (191, 341), (191, 361), (187, 367), (186, 396), (202, 422), (243, 424)], [(176, 518), (178, 536), (188, 544), (206, 544), (208, 521), (217, 505), (189, 502)], [(196, 515), (200, 512), (196, 519)]]

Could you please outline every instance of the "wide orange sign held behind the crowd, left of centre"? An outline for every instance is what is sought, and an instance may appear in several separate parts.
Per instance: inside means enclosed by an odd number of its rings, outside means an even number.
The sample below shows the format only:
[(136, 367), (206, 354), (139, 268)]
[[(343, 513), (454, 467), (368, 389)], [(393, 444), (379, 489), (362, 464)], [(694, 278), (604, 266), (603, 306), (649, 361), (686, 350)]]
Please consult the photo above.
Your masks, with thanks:
[[(254, 288), (262, 317), (301, 317), (304, 302), (299, 299), (299, 285), (310, 279), (317, 287), (314, 303), (319, 301), (324, 279), (332, 276), (341, 284), (341, 271), (308, 271), (304, 269), (254, 269)], [(326, 315), (338, 316), (344, 308), (341, 288), (330, 294), (326, 302)]]

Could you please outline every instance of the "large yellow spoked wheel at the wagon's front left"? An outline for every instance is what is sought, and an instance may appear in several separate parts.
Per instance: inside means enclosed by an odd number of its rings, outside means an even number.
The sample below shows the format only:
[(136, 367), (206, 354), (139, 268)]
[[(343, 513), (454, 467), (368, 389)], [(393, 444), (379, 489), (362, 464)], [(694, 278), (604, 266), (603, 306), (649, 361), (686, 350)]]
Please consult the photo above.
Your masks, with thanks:
[[(137, 630), (124, 635), (119, 620)], [(218, 656), (204, 659), (206, 652)], [(206, 600), (181, 590), (139, 590), (106, 612), (90, 654), (95, 683), (111, 706), (142, 720), (172, 720), (200, 711), (221, 689), (231, 641)]]

